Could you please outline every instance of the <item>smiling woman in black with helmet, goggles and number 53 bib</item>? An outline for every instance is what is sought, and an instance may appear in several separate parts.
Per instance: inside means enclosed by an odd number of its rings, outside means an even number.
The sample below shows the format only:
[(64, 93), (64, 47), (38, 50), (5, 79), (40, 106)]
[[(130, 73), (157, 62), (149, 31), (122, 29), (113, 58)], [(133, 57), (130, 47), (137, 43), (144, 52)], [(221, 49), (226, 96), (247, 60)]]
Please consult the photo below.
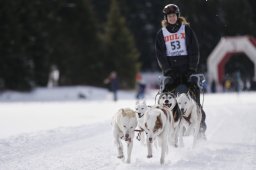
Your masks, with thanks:
[[(163, 9), (162, 28), (156, 35), (156, 58), (166, 81), (162, 92), (173, 92), (180, 84), (188, 86), (199, 106), (200, 89), (197, 79), (190, 76), (197, 72), (199, 47), (197, 37), (175, 4)], [(200, 131), (205, 134), (205, 112), (203, 111)]]

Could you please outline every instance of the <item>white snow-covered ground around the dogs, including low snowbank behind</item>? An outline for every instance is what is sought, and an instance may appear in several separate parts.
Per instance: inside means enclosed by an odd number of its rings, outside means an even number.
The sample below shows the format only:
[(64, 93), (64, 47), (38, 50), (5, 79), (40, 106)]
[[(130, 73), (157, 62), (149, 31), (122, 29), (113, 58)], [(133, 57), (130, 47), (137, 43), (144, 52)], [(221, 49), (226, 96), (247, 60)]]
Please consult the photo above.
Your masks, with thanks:
[[(146, 100), (154, 103), (156, 92)], [(134, 92), (94, 87), (36, 89), (0, 94), (0, 170), (255, 170), (256, 93), (206, 94), (207, 141), (160, 150), (146, 158), (135, 140), (131, 164), (116, 158), (110, 120), (121, 107), (134, 108)]]

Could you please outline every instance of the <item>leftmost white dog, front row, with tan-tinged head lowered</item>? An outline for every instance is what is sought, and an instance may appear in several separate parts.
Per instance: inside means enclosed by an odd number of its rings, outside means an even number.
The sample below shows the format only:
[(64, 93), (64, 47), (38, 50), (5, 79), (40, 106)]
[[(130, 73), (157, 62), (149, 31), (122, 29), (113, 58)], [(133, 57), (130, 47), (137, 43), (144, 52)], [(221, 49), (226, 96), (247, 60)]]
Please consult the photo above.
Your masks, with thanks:
[(129, 108), (118, 110), (112, 120), (114, 142), (117, 146), (117, 158), (123, 158), (123, 145), (121, 139), (127, 143), (127, 163), (131, 162), (134, 130), (137, 126), (135, 111)]

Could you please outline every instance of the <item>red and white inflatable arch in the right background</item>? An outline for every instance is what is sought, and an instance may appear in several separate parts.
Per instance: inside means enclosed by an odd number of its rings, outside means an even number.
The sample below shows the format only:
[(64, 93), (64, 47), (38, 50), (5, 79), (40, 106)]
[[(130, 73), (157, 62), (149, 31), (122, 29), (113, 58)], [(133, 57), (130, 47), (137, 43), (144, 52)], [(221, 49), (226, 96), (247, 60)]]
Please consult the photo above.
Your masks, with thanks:
[(248, 36), (223, 37), (207, 60), (208, 82), (220, 84), (224, 76), (224, 67), (235, 53), (245, 53), (254, 64), (256, 81), (256, 39)]

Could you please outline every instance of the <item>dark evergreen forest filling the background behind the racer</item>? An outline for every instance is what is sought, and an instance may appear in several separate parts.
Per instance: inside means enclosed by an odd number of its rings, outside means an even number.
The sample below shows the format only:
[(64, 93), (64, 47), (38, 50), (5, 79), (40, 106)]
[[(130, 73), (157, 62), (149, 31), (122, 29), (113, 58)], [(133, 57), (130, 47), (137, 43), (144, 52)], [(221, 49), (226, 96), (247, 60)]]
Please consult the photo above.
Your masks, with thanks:
[(160, 71), (154, 42), (168, 3), (198, 37), (200, 72), (221, 37), (256, 36), (255, 0), (0, 0), (0, 89), (45, 87), (53, 65), (62, 86), (104, 86), (115, 70), (134, 88), (138, 71)]

